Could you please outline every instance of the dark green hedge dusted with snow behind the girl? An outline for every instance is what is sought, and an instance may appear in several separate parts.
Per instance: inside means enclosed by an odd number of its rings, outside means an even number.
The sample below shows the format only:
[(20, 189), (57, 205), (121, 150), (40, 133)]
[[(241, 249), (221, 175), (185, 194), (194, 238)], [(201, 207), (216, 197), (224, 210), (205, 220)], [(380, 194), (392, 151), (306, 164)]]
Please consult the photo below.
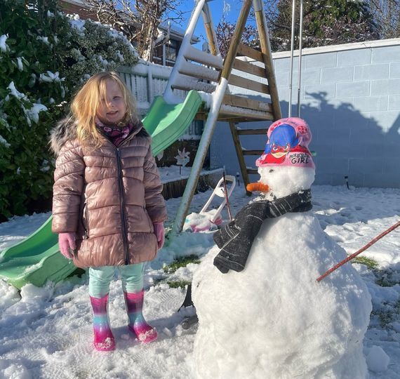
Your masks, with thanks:
[(137, 61), (124, 36), (63, 15), (56, 1), (0, 2), (0, 221), (51, 199), (48, 135), (76, 88)]

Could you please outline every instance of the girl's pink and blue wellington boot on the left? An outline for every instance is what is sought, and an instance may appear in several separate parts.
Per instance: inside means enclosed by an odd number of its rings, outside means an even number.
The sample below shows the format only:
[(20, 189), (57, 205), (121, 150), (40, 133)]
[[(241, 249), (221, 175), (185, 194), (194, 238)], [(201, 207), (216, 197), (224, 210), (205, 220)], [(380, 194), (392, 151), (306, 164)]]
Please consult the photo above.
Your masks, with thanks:
[(102, 298), (91, 298), (93, 308), (93, 333), (95, 349), (100, 352), (115, 350), (115, 339), (109, 327), (108, 293)]

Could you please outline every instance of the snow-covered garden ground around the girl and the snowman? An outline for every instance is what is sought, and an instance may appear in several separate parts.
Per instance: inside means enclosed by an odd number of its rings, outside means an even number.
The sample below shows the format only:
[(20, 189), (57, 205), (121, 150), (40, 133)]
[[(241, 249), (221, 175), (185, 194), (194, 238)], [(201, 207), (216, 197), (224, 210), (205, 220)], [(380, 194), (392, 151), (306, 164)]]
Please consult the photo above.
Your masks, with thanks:
[[(210, 194), (196, 195), (191, 211), (199, 211)], [(312, 194), (321, 227), (349, 254), (400, 219), (400, 189), (314, 186)], [(244, 188), (236, 187), (232, 213), (248, 200)], [(180, 199), (167, 201), (170, 220), (179, 204)], [(34, 232), (48, 216), (15, 217), (0, 224), (0, 249)], [(226, 220), (227, 213), (223, 216)], [(211, 232), (183, 233), (147, 266), (144, 312), (159, 331), (155, 343), (140, 345), (130, 337), (121, 284), (112, 282), (109, 311), (117, 348), (111, 353), (92, 347), (86, 274), (45, 288), (27, 285), (20, 293), (0, 281), (0, 378), (192, 378), (196, 326), (185, 331), (180, 322), (193, 310), (177, 312), (185, 290), (171, 288), (167, 281), (190, 281), (198, 265), (189, 263), (169, 274), (163, 266), (185, 255), (204, 257), (212, 247)], [(373, 379), (400, 378), (400, 228), (360, 256), (378, 264), (373, 270), (354, 264), (373, 301), (364, 339), (369, 374)]]

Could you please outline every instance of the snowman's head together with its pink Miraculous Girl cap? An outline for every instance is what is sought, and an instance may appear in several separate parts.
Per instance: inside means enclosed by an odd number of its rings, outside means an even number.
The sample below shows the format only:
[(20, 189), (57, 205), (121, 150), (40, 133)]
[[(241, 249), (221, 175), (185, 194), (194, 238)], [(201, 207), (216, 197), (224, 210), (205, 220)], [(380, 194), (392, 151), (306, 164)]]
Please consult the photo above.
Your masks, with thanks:
[(315, 166), (308, 149), (312, 134), (307, 123), (298, 117), (280, 119), (269, 126), (267, 137), (265, 150), (255, 164), (268, 193), (279, 198), (309, 189)]

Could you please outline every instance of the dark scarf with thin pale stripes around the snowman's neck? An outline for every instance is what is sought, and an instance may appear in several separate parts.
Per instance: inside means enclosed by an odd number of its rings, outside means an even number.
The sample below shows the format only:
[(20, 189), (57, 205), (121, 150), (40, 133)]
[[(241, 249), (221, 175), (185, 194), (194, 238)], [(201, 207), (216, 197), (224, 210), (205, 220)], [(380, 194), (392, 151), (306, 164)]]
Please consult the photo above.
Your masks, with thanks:
[(310, 209), (312, 209), (310, 189), (274, 201), (254, 201), (244, 206), (232, 222), (214, 233), (214, 241), (221, 249), (214, 258), (215, 267), (223, 274), (229, 270), (241, 272), (264, 220), (288, 212), (305, 212)]

